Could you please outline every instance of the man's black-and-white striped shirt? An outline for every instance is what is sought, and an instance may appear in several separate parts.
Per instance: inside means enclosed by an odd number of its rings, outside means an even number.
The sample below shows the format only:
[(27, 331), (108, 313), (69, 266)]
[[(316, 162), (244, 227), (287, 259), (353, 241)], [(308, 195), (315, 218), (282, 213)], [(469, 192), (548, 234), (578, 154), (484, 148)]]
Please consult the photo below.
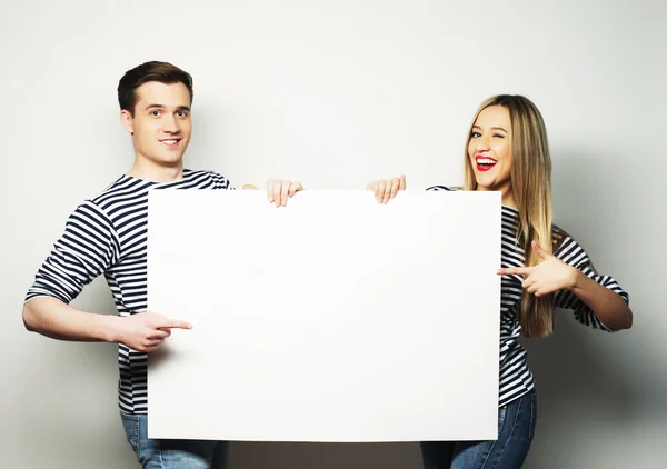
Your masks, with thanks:
[[(232, 189), (211, 171), (183, 170), (175, 182), (122, 176), (70, 214), (62, 236), (38, 270), (26, 301), (54, 297), (70, 303), (103, 275), (120, 316), (147, 310), (148, 192), (157, 189)], [(147, 353), (118, 346), (118, 401), (127, 413), (147, 413)]]

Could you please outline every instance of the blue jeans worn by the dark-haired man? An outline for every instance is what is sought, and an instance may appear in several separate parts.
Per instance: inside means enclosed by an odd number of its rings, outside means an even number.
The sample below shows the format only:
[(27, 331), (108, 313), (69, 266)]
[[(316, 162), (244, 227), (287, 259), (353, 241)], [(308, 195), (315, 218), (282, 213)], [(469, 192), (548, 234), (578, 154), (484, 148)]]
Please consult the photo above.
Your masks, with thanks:
[(225, 469), (228, 441), (148, 438), (146, 415), (120, 412), (128, 442), (143, 469)]

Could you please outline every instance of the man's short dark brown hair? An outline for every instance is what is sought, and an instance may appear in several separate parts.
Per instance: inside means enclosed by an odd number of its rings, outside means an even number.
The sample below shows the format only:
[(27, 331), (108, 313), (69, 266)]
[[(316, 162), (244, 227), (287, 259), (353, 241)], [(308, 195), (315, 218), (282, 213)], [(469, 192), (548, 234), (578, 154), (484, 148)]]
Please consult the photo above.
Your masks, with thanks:
[(128, 70), (118, 82), (120, 109), (129, 111), (133, 116), (137, 104), (137, 88), (149, 81), (159, 81), (165, 84), (183, 83), (190, 93), (190, 104), (192, 104), (195, 94), (190, 73), (168, 62), (151, 61)]

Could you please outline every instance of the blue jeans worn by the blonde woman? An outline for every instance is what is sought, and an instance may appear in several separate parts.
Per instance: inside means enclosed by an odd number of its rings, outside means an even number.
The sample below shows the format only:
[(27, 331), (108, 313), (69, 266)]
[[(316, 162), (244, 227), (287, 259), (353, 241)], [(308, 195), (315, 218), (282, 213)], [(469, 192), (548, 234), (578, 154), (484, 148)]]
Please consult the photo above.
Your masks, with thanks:
[(425, 441), (425, 469), (519, 469), (535, 436), (535, 390), (498, 409), (498, 439), (490, 441)]

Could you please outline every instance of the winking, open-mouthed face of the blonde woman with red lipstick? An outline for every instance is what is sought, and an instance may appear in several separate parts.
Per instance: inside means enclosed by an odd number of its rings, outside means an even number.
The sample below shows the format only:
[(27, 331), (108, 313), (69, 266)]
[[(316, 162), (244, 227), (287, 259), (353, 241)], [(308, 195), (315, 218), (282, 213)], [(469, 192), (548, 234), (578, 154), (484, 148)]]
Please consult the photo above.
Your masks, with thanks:
[(477, 117), (468, 141), (477, 190), (501, 191), (505, 204), (514, 204), (510, 132), (509, 111), (502, 106), (489, 106)]

